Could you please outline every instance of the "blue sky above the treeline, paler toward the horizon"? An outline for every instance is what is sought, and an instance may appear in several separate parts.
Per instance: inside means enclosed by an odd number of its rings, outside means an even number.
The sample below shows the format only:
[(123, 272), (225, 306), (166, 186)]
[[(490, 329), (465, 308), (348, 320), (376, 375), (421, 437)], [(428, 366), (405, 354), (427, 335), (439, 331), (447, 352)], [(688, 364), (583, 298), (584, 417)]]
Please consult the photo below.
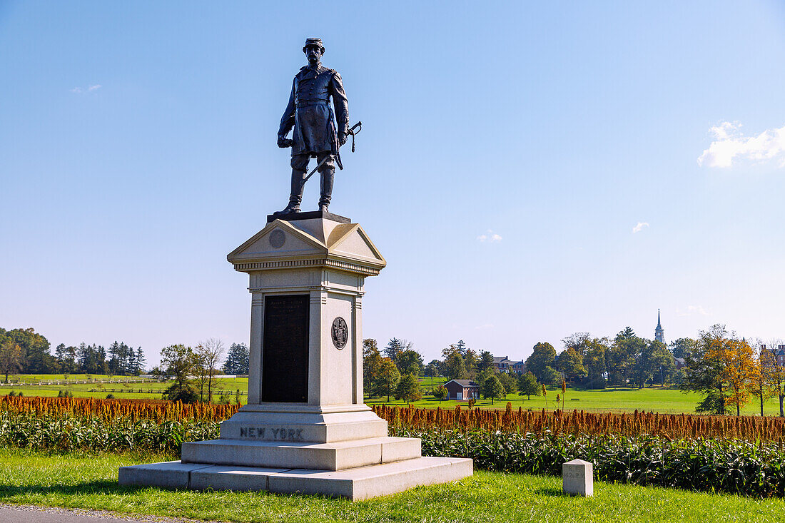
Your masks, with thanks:
[(364, 123), (366, 337), (785, 336), (785, 8), (714, 1), (0, 2), (0, 326), (247, 342), (225, 255), (287, 202), (308, 36)]

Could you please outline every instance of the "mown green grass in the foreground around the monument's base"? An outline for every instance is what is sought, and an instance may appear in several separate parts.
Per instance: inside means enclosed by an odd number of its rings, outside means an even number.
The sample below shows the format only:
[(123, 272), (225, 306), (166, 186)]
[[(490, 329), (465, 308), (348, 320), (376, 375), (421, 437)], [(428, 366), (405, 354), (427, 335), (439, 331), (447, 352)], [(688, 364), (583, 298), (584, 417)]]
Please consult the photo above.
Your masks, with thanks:
[(454, 484), (352, 503), (321, 496), (121, 487), (120, 466), (163, 455), (47, 455), (0, 448), (0, 503), (111, 510), (218, 521), (782, 521), (783, 499), (748, 499), (595, 483), (593, 498), (559, 477), (475, 472)]

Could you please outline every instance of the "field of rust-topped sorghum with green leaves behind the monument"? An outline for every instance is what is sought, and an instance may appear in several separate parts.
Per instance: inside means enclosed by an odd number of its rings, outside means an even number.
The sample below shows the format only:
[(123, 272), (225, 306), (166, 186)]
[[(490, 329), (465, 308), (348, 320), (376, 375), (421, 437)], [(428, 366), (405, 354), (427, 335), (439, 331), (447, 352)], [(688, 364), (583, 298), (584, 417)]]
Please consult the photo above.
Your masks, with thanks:
[[(81, 398), (0, 398), (0, 445), (49, 451), (179, 452), (218, 437), (237, 405)], [(571, 459), (601, 481), (785, 496), (785, 420), (753, 416), (433, 410), (380, 406), (390, 433), (424, 455), (469, 457), (485, 470), (560, 474)]]

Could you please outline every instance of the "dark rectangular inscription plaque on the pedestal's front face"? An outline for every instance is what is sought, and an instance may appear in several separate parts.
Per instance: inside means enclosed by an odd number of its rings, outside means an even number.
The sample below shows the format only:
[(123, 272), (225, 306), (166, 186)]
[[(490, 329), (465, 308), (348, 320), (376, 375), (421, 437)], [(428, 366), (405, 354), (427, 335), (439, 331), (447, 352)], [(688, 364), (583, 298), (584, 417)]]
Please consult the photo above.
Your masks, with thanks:
[(308, 402), (309, 295), (265, 296), (261, 400)]

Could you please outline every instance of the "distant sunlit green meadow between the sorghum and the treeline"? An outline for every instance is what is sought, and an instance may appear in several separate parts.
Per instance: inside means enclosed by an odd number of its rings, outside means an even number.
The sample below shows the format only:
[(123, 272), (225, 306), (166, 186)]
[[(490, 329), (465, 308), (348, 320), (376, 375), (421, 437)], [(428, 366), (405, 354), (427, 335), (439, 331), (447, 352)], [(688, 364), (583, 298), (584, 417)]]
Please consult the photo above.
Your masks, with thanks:
[[(93, 378), (108, 379), (107, 376), (92, 375)], [(25, 375), (24, 381), (38, 382), (47, 381), (48, 379), (62, 379), (62, 375), (53, 375), (40, 377), (36, 375)], [(69, 379), (86, 379), (85, 375), (71, 375)], [(117, 379), (113, 377), (112, 379)], [(124, 378), (121, 378), (124, 379)], [(445, 378), (434, 378), (433, 386), (438, 386), (447, 382)], [(423, 389), (429, 390), (431, 388), (431, 378), (421, 379)], [(0, 387), (0, 395), (5, 395), (13, 390), (15, 393), (20, 391), (25, 396), (44, 396), (55, 397), (60, 390), (69, 390), (75, 397), (97, 397), (105, 398), (107, 394), (112, 394), (115, 398), (127, 399), (160, 399), (161, 392), (166, 389), (168, 384), (166, 382), (133, 382), (133, 383), (79, 383), (76, 385), (24, 385), (19, 386), (13, 384), (11, 386)], [(139, 390), (148, 392), (140, 393)], [(235, 401), (235, 390), (239, 390), (243, 395), (240, 396), (240, 402), (245, 404), (247, 397), (244, 395), (248, 390), (247, 378), (232, 378), (232, 379), (218, 379), (217, 389), (214, 392), (214, 401), (219, 400), (221, 394), (224, 394), (232, 403)], [(491, 404), (491, 400), (479, 400), (476, 402), (477, 407), (481, 408), (505, 408), (507, 401), (513, 404), (513, 408), (517, 410), (519, 407), (524, 409), (531, 408), (532, 410), (539, 410), (547, 408), (554, 410), (557, 408), (555, 403), (556, 395), (561, 393), (561, 390), (549, 390), (548, 397), (532, 396), (531, 400), (526, 397), (521, 397), (518, 394), (509, 394), (506, 399), (495, 400)], [(392, 405), (405, 405), (403, 401), (396, 401), (390, 398)], [(367, 404), (388, 404), (387, 397), (376, 397), (366, 400)], [(547, 401), (546, 401), (547, 400)], [(602, 412), (632, 412), (638, 411), (653, 411), (661, 412), (663, 414), (687, 414), (694, 413), (696, 405), (701, 396), (696, 393), (682, 393), (681, 390), (672, 387), (648, 387), (644, 389), (607, 389), (607, 390), (572, 390), (568, 389), (567, 398), (564, 401), (564, 408), (566, 410), (584, 410), (584, 411), (602, 411)], [(461, 404), (466, 406), (466, 401), (437, 401), (433, 397), (426, 396), (424, 399), (414, 401), (412, 404), (421, 408), (455, 408), (455, 405)], [(561, 408), (561, 403), (559, 404)], [(764, 412), (766, 415), (779, 415), (780, 403), (776, 398), (765, 401)], [(750, 403), (747, 404), (742, 410), (743, 414), (759, 415), (760, 406), (755, 398), (751, 398)], [(731, 412), (731, 414), (735, 414)]]

